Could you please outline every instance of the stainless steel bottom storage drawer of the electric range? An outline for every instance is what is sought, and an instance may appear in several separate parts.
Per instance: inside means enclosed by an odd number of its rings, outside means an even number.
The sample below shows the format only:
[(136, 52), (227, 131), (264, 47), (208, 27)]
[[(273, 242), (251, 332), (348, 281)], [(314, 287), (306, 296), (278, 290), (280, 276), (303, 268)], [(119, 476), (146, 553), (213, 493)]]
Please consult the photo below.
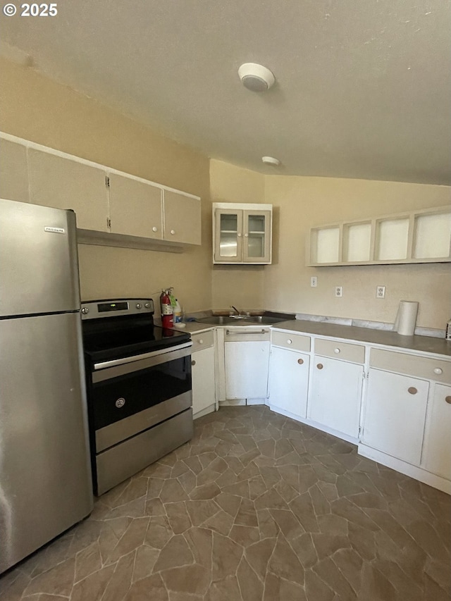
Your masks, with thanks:
[(123, 482), (192, 438), (192, 410), (111, 447), (96, 457), (97, 495)]

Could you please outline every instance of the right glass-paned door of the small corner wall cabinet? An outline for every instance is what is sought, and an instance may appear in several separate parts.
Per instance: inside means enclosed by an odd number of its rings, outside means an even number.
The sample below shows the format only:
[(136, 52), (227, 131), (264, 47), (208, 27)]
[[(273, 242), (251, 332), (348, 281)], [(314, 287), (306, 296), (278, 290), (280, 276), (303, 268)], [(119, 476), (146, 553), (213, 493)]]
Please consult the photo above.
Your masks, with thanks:
[(243, 261), (268, 263), (271, 261), (270, 211), (244, 211)]

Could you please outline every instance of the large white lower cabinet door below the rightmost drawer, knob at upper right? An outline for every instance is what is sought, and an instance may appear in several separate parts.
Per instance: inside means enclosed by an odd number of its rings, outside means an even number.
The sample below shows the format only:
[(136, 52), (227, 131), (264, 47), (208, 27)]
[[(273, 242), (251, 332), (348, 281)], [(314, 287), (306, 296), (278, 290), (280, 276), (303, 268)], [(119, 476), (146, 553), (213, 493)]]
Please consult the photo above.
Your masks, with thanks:
[(428, 380), (370, 368), (362, 442), (419, 465)]

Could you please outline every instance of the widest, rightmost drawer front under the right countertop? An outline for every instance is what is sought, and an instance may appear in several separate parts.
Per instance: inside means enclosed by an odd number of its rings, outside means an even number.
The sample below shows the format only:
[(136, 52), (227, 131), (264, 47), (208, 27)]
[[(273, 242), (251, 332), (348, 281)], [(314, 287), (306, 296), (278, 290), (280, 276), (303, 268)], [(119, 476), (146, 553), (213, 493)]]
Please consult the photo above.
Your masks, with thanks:
[(427, 378), (451, 384), (451, 362), (431, 359), (429, 357), (416, 357), (404, 353), (371, 349), (369, 364), (371, 367), (407, 373), (417, 378)]

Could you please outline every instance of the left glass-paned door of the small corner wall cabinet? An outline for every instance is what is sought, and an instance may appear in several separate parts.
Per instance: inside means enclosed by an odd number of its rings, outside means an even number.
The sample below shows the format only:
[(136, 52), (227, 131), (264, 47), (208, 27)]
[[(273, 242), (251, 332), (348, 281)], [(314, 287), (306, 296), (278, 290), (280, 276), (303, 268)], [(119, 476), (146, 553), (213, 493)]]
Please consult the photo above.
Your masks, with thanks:
[(242, 261), (242, 211), (223, 209), (216, 213), (215, 260)]

